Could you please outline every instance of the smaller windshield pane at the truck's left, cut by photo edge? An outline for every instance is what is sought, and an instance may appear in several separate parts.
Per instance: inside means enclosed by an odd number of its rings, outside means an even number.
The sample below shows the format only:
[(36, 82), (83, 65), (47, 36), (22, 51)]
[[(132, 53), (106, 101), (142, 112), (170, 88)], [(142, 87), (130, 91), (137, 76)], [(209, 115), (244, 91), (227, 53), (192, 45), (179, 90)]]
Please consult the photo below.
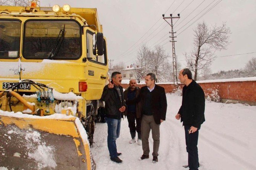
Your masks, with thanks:
[(21, 22), (17, 20), (0, 20), (0, 58), (17, 58), (19, 56)]

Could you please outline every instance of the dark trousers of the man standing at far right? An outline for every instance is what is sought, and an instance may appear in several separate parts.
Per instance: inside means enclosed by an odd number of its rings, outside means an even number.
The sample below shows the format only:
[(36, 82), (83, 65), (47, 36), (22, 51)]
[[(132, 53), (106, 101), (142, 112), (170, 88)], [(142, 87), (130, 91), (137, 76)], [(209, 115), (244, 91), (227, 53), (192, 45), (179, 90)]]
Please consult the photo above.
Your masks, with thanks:
[(185, 139), (186, 139), (186, 150), (188, 152), (188, 167), (190, 170), (198, 170), (199, 161), (198, 161), (198, 134), (199, 129), (194, 132), (188, 134), (188, 130), (191, 126), (184, 126), (185, 129)]

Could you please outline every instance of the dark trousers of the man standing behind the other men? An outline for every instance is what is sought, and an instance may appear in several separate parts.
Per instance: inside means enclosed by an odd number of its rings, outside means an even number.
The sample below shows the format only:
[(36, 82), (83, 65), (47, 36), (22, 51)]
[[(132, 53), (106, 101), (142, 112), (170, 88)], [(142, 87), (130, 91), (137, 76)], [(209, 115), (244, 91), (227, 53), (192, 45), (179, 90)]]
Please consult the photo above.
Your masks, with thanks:
[[(128, 126), (130, 128), (131, 138), (135, 138), (136, 132), (138, 138), (141, 139), (141, 119), (136, 117), (136, 112), (127, 113)], [(136, 120), (136, 124), (135, 124)]]

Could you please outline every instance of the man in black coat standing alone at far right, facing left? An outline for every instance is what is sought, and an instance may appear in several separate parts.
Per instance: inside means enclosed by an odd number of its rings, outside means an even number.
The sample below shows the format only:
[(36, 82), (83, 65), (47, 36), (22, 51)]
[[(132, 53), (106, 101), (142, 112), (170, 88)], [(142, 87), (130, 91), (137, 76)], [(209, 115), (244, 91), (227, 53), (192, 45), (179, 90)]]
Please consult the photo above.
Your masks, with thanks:
[(198, 135), (201, 124), (204, 119), (204, 91), (192, 80), (192, 73), (189, 69), (180, 71), (179, 79), (185, 86), (182, 89), (182, 104), (178, 114), (175, 116), (177, 120), (181, 118), (185, 129), (186, 150), (188, 152), (188, 165), (190, 170), (198, 170)]

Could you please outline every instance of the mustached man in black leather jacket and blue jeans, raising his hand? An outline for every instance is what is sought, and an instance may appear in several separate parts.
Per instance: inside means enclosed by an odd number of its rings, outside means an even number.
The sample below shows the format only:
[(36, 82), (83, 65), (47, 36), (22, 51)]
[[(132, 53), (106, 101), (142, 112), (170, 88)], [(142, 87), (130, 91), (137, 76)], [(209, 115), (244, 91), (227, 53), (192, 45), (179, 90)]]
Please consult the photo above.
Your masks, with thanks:
[(105, 101), (105, 120), (108, 125), (107, 144), (110, 159), (121, 163), (123, 161), (118, 158), (121, 153), (117, 153), (115, 141), (120, 135), (121, 119), (126, 109), (123, 87), (121, 86), (122, 74), (113, 72), (111, 79), (112, 81), (109, 80), (109, 84), (104, 87), (101, 99)]

